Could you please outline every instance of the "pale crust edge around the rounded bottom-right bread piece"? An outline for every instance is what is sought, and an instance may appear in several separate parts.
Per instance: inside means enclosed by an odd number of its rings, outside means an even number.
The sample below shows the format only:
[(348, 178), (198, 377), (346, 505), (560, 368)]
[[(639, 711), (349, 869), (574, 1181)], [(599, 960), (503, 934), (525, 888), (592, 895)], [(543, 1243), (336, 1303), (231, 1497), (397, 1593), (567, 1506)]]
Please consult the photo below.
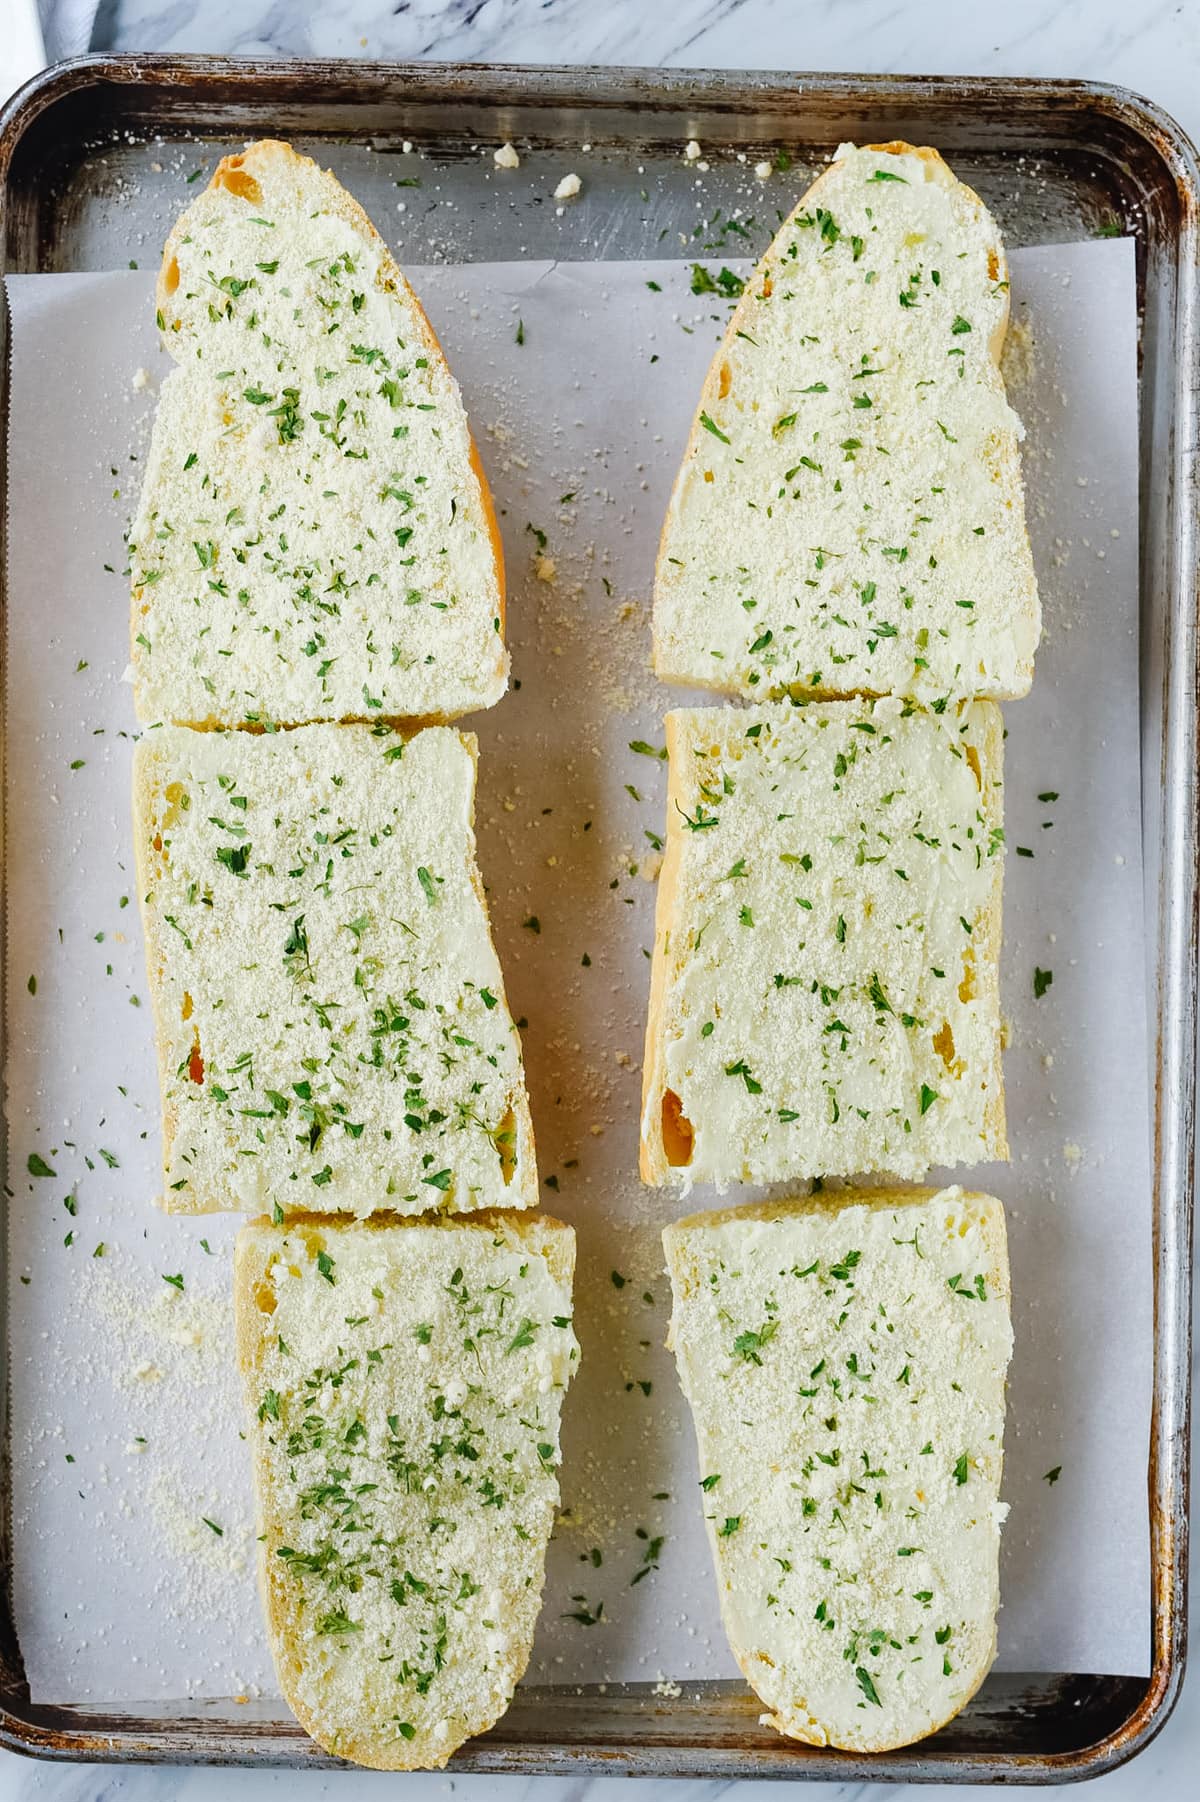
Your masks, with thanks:
[[(890, 1211), (897, 1207), (924, 1207), (928, 1202), (946, 1193), (955, 1193), (962, 1202), (975, 1204), (980, 1209), (978, 1215), (980, 1227), (984, 1233), (984, 1243), (989, 1252), (989, 1265), (986, 1270), (987, 1290), (989, 1294), (1002, 1299), (1005, 1303), (1005, 1308), (1011, 1308), (1013, 1285), (1009, 1274), (1007, 1222), (1004, 1207), (995, 1197), (973, 1189), (962, 1189), (962, 1191), (946, 1191), (932, 1188), (843, 1189), (838, 1195), (791, 1197), (780, 1202), (755, 1202), (746, 1207), (717, 1207), (706, 1213), (690, 1215), (688, 1218), (676, 1220), (672, 1225), (663, 1229), (663, 1252), (667, 1258), (667, 1270), (670, 1276), (672, 1290), (676, 1294), (685, 1294), (686, 1285), (692, 1279), (692, 1272), (688, 1269), (686, 1245), (688, 1245), (688, 1233), (694, 1229), (726, 1225), (730, 1222), (778, 1220), (780, 1216), (795, 1216), (795, 1215), (834, 1216), (843, 1207), (870, 1207), (874, 1211)], [(670, 1352), (676, 1350), (674, 1310), (672, 1310), (672, 1324), (667, 1333), (667, 1348)], [(688, 1398), (688, 1404), (692, 1406), (692, 1397), (686, 1393), (683, 1362), (679, 1362), (679, 1379), (685, 1395)], [(1000, 1447), (1000, 1451), (995, 1456), (996, 1456), (996, 1487), (1000, 1487), (1004, 1476), (1004, 1447)], [(717, 1566), (717, 1539), (714, 1532), (714, 1523), (706, 1521), (705, 1530), (712, 1548), (714, 1566)], [(746, 1678), (746, 1683), (755, 1692), (755, 1696), (760, 1696), (757, 1679), (760, 1678), (762, 1663), (755, 1654), (755, 1651), (744, 1645), (739, 1638), (741, 1624), (735, 1618), (733, 1598), (726, 1589), (726, 1584), (721, 1580), (719, 1566), (717, 1566), (717, 1600), (721, 1607), (721, 1624), (724, 1625), (726, 1638), (730, 1642), (730, 1651), (733, 1652), (737, 1667)], [(872, 1735), (872, 1734), (827, 1732), (818, 1721), (813, 1719), (813, 1716), (802, 1712), (807, 1706), (804, 1697), (796, 1697), (795, 1710), (789, 1714), (784, 1714), (778, 1708), (771, 1708), (771, 1705), (768, 1703), (768, 1712), (760, 1716), (760, 1721), (764, 1726), (773, 1726), (786, 1739), (795, 1739), (805, 1746), (834, 1746), (843, 1752), (870, 1752), (870, 1753), (897, 1752), (903, 1746), (917, 1744), (919, 1741), (928, 1739), (932, 1734), (941, 1732), (941, 1728), (946, 1726), (948, 1721), (953, 1721), (959, 1714), (962, 1714), (962, 1710), (978, 1692), (980, 1685), (984, 1683), (984, 1678), (991, 1670), (995, 1656), (996, 1656), (996, 1631), (993, 1624), (989, 1649), (986, 1656), (978, 1660), (978, 1665), (971, 1670), (969, 1678), (966, 1679), (966, 1687), (959, 1701), (944, 1714), (937, 1716), (930, 1723), (930, 1726), (914, 1734)], [(766, 1703), (764, 1696), (762, 1701)]]

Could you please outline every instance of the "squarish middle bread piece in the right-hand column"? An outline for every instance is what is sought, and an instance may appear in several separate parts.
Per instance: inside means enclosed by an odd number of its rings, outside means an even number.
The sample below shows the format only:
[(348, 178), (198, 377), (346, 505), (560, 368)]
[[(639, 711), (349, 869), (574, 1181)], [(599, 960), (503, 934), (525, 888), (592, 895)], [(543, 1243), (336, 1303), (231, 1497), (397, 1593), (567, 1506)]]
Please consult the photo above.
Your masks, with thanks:
[(1007, 1157), (1002, 735), (991, 701), (667, 715), (647, 1182)]

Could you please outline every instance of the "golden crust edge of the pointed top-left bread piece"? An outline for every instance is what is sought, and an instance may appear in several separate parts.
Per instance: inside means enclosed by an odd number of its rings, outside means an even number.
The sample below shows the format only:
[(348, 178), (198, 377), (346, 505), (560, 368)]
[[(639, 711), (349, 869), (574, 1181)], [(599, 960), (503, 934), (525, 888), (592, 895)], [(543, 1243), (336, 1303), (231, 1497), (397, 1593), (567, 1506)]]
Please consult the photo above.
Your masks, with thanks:
[[(425, 353), (431, 359), (436, 359), (443, 368), (449, 368), (447, 359), (445, 359), (445, 351), (441, 350), (441, 344), (438, 342), (438, 335), (436, 335), (432, 324), (429, 323), (429, 315), (427, 315), (425, 308), (422, 306), (418, 296), (414, 294), (411, 283), (404, 276), (400, 265), (396, 263), (396, 259), (393, 258), (391, 250), (387, 249), (387, 243), (384, 241), (384, 238), (380, 236), (380, 232), (377, 231), (377, 227), (373, 225), (373, 222), (369, 220), (369, 216), (366, 214), (366, 211), (362, 209), (362, 205), (353, 198), (353, 195), (350, 195), (341, 186), (341, 182), (337, 180), (337, 177), (330, 169), (321, 169), (319, 164), (312, 157), (301, 157), (295, 150), (292, 150), (290, 144), (285, 144), (281, 139), (259, 139), (258, 142), (249, 144), (245, 150), (238, 151), (236, 155), (222, 157), (222, 160), (218, 162), (216, 169), (213, 171), (213, 178), (209, 180), (205, 193), (211, 195), (211, 193), (214, 193), (218, 189), (223, 189), (223, 191), (227, 191), (227, 193), (231, 193), (234, 196), (245, 198), (250, 204), (254, 204), (252, 196), (249, 193), (247, 184), (252, 184), (254, 187), (258, 187), (258, 177), (263, 175), (263, 173), (267, 173), (267, 171), (270, 171), (272, 164), (277, 169), (285, 169), (288, 175), (295, 175), (295, 177), (314, 173), (315, 178), (321, 184), (328, 184), (328, 187), (330, 187), (330, 209), (333, 213), (341, 214), (341, 218), (344, 218), (362, 238), (366, 238), (378, 250), (380, 261), (382, 261), (382, 267), (380, 267), (380, 287), (384, 287), (384, 288), (395, 288), (395, 290), (398, 290), (404, 296), (404, 299), (413, 308), (413, 314), (414, 314), (414, 319), (416, 319), (418, 332), (422, 335), (422, 344), (423, 344)], [(178, 310), (175, 308), (171, 297), (173, 297), (175, 288), (178, 285), (178, 247), (180, 247), (180, 243), (189, 234), (189, 229), (191, 229), (191, 211), (193, 209), (187, 207), (178, 216), (178, 220), (175, 222), (175, 225), (171, 227), (171, 231), (168, 234), (168, 240), (166, 240), (166, 245), (162, 249), (162, 259), (159, 263), (159, 276), (157, 276), (157, 281), (155, 281), (155, 305), (157, 305), (157, 315), (159, 315), (159, 321), (160, 321), (162, 344), (164, 344), (168, 355), (177, 364), (180, 362), (180, 357), (177, 353), (180, 319), (178, 319)], [(485, 519), (486, 535), (488, 535), (488, 548), (490, 548), (490, 555), (492, 555), (492, 573), (494, 573), (494, 584), (495, 584), (495, 611), (497, 611), (497, 618), (499, 618), (497, 640), (501, 642), (501, 647), (503, 647), (505, 631), (506, 631), (506, 618), (508, 618), (508, 587), (506, 587), (506, 575), (505, 575), (505, 546), (503, 546), (501, 533), (499, 533), (499, 524), (497, 524), (497, 519), (495, 519), (495, 501), (492, 497), (492, 488), (490, 488), (486, 474), (483, 470), (483, 460), (479, 456), (479, 445), (476, 443), (476, 436), (470, 431), (470, 425), (468, 425), (468, 443), (470, 443), (468, 461), (470, 461), (470, 469), (472, 469), (472, 472), (476, 476), (476, 481), (479, 483), (479, 501), (481, 501), (481, 506), (483, 506), (483, 519)], [(130, 609), (130, 656), (132, 658), (137, 656), (137, 634), (142, 631), (144, 616), (150, 611), (148, 609), (148, 602), (144, 600), (144, 593), (146, 593), (144, 589), (137, 589), (137, 587), (133, 589), (132, 609)], [(319, 717), (326, 717), (326, 715), (319, 715)], [(351, 717), (351, 715), (348, 715), (346, 719), (348, 719), (348, 723), (368, 723), (368, 724), (373, 724), (380, 717), (387, 724), (400, 724), (398, 717), (395, 717), (395, 715), (378, 715), (378, 714), (375, 714), (375, 715), (360, 715), (357, 719)], [(452, 715), (431, 714), (431, 715), (423, 715), (418, 721), (414, 719), (413, 723), (416, 723), (416, 724), (443, 724)], [(308, 721), (308, 719), (286, 721), (288, 726), (301, 726), (301, 724), (310, 724), (310, 723), (312, 721)], [(193, 726), (193, 728), (196, 728), (196, 730), (214, 730), (214, 728), (218, 728), (222, 724), (238, 724), (238, 726), (241, 726), (241, 723), (222, 721), (216, 715), (209, 715), (207, 719), (187, 721), (187, 724)], [(241, 728), (241, 730), (245, 730), (245, 728)], [(250, 730), (256, 730), (256, 728), (250, 728)]]

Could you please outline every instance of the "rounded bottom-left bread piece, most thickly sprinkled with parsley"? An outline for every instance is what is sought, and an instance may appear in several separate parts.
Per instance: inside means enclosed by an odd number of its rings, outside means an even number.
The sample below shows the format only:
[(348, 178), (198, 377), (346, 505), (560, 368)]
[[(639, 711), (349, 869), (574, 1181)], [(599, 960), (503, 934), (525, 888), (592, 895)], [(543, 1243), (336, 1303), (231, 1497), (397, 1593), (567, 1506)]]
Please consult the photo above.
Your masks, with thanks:
[(238, 1234), (267, 1631), (326, 1752), (427, 1770), (508, 1706), (559, 1503), (573, 1269), (544, 1215)]

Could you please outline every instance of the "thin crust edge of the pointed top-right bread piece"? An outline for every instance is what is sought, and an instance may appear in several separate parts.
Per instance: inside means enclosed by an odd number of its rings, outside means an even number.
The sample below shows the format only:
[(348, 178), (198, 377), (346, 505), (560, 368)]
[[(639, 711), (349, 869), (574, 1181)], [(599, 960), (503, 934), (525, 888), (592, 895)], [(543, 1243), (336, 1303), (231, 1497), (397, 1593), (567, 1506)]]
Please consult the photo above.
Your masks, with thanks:
[[(953, 169), (944, 160), (944, 157), (942, 157), (942, 153), (939, 150), (933, 150), (928, 144), (924, 144), (924, 146), (908, 144), (903, 139), (894, 139), (888, 144), (863, 144), (861, 148), (863, 150), (874, 150), (874, 151), (879, 151), (879, 153), (885, 153), (885, 155), (894, 155), (894, 157), (917, 157), (919, 162), (924, 164), (928, 180), (932, 180), (939, 187), (946, 187), (946, 189), (960, 187), (962, 193), (968, 195), (975, 205), (978, 205), (982, 211), (987, 211), (984, 207), (984, 202), (980, 200), (980, 196), (975, 193), (975, 189), (968, 187), (966, 182), (959, 180), (959, 177), (953, 173)], [(796, 214), (800, 214), (802, 211), (807, 211), (814, 204), (820, 204), (820, 200), (823, 196), (823, 191), (825, 191), (825, 186), (831, 182), (831, 178), (841, 168), (841, 160), (843, 159), (834, 159), (829, 164), (829, 168), (823, 169), (816, 177), (816, 180), (805, 189), (805, 193), (800, 196), (800, 200), (791, 209), (791, 213), (787, 214), (787, 218), (784, 220), (784, 223), (780, 225), (780, 229), (777, 231), (775, 238), (768, 245), (764, 256), (755, 265), (755, 272), (757, 272), (757, 268), (768, 258), (773, 256), (777, 243), (793, 229), (793, 222), (795, 222)], [(1002, 351), (1004, 351), (1004, 341), (1007, 337), (1007, 324), (1009, 324), (1009, 312), (1011, 312), (1011, 299), (1009, 299), (1009, 294), (1011, 294), (1011, 290), (1009, 290), (1009, 261), (1007, 261), (1007, 254), (1005, 254), (1005, 249), (1004, 249), (1004, 241), (1002, 241), (1002, 238), (1000, 238), (998, 232), (995, 236), (993, 245), (989, 247), (989, 252), (996, 259), (996, 283), (1002, 283), (1002, 296), (1004, 296), (1004, 314), (1002, 314), (996, 328), (991, 332), (991, 335), (987, 339), (987, 350), (989, 350), (991, 360), (995, 362), (995, 366), (998, 369), (1000, 368), (1000, 357), (1002, 357)], [(676, 515), (676, 510), (679, 506), (679, 499), (681, 499), (681, 492), (683, 492), (683, 481), (685, 481), (685, 478), (686, 478), (692, 463), (699, 456), (699, 450), (701, 450), (703, 441), (705, 441), (705, 427), (701, 423), (701, 416), (705, 413), (708, 413), (708, 409), (721, 398), (721, 395), (719, 395), (721, 366), (726, 360), (726, 357), (728, 357), (733, 342), (737, 341), (737, 335), (744, 330), (746, 319), (751, 314), (753, 305), (755, 305), (753, 279), (750, 279), (746, 283), (744, 290), (742, 290), (742, 296), (741, 296), (737, 306), (733, 308), (733, 312), (730, 315), (730, 321), (728, 321), (728, 324), (724, 328), (724, 335), (721, 339), (721, 344), (717, 346), (717, 351), (715, 351), (715, 355), (714, 355), (714, 359), (712, 359), (712, 362), (708, 366), (708, 371), (705, 375), (705, 384), (701, 387), (701, 396), (699, 396), (699, 402), (697, 402), (697, 407), (695, 407), (695, 414), (692, 418), (692, 429), (688, 431), (688, 440), (686, 440), (686, 445), (683, 449), (683, 458), (679, 461), (679, 469), (676, 472), (676, 479), (674, 479), (672, 488), (670, 488), (670, 499), (667, 503), (667, 512), (663, 515), (663, 530), (661, 530), (659, 541), (658, 541), (658, 555), (654, 559), (654, 595), (656, 596), (658, 596), (658, 593), (659, 593), (659, 589), (663, 586), (663, 573), (665, 573), (665, 564), (667, 564), (667, 555), (668, 555), (668, 542), (670, 542), (672, 532), (674, 532), (674, 515)], [(1029, 542), (1029, 532), (1025, 532), (1025, 542)], [(730, 681), (721, 681), (717, 676), (712, 676), (712, 678), (706, 679), (705, 674), (697, 674), (695, 670), (672, 670), (670, 669), (670, 654), (668, 654), (668, 651), (663, 645), (661, 636), (659, 636), (658, 618), (659, 618), (658, 616), (658, 609), (654, 609), (654, 623), (652, 623), (654, 651), (652, 651), (652, 658), (654, 658), (654, 674), (661, 681), (681, 683), (683, 687), (688, 687), (688, 688), (703, 688), (708, 694), (741, 696), (742, 690), (737, 685), (733, 685)], [(1014, 688), (1013, 688), (1011, 694), (995, 696), (995, 699), (1016, 701), (1016, 699), (1020, 699), (1022, 696), (1025, 696), (1029, 692), (1029, 688), (1032, 685), (1032, 658), (1027, 658), (1020, 665), (1018, 678), (1020, 678), (1020, 683), (1014, 685)], [(822, 687), (814, 687), (814, 688), (805, 688), (804, 692), (805, 692), (805, 699), (813, 699), (813, 701), (836, 701), (836, 699), (847, 699), (850, 696), (876, 694), (877, 690), (865, 688), (865, 687), (836, 688), (836, 687), (822, 685)]]

